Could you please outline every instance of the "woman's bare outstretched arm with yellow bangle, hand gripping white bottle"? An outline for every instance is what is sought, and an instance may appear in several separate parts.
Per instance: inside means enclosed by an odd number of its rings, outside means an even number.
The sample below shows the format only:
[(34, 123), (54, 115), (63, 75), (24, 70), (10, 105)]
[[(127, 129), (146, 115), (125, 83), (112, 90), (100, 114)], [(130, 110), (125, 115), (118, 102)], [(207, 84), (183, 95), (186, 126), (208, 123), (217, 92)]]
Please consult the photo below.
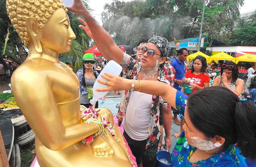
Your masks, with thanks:
[[(102, 75), (104, 79), (108, 81), (108, 87), (102, 89), (96, 89), (98, 92), (105, 91), (114, 91), (114, 90), (131, 90), (131, 84), (134, 84), (134, 91), (138, 91), (140, 89), (140, 83), (138, 80), (130, 80), (124, 79), (122, 77), (118, 77), (115, 75), (111, 75), (109, 73), (105, 73)], [(97, 80), (101, 84), (105, 84), (105, 81), (98, 79)], [(176, 100), (176, 92), (177, 90), (170, 86), (170, 84), (166, 84), (159, 81), (141, 81), (141, 90), (140, 92), (152, 95), (161, 96), (168, 104), (172, 107), (176, 108), (175, 100)]]

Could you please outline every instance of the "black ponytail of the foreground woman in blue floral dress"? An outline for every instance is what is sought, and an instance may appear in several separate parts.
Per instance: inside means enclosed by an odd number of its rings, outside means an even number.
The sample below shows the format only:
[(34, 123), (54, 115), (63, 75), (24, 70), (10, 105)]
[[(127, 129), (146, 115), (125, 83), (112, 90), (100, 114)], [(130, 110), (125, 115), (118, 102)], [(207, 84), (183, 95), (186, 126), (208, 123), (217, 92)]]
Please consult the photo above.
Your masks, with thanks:
[(250, 101), (239, 101), (235, 108), (238, 147), (245, 158), (256, 160), (256, 106)]

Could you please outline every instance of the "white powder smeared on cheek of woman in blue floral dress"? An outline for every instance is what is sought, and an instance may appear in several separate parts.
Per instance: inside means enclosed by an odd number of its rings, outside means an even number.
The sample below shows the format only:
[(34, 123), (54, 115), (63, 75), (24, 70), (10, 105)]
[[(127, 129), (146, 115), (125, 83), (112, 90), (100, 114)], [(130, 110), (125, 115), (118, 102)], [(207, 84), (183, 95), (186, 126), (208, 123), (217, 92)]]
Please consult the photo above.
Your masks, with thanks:
[(191, 139), (191, 145), (200, 150), (209, 151), (216, 148), (212, 141), (204, 140), (199, 137), (191, 137)]

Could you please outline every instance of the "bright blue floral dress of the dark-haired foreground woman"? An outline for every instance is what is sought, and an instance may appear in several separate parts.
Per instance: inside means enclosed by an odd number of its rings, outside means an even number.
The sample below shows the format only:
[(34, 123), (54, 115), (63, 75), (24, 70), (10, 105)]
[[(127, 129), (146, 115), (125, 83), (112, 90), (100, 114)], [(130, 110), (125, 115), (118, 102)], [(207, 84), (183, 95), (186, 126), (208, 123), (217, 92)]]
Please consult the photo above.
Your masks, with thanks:
[[(178, 112), (184, 115), (185, 106), (187, 104), (187, 95), (180, 91), (176, 94), (176, 108)], [(218, 153), (208, 159), (197, 162), (189, 162), (189, 158), (196, 150), (187, 142), (185, 132), (183, 131), (172, 151), (173, 167), (189, 167), (189, 166), (210, 166), (210, 167), (246, 167), (245, 158), (241, 155), (241, 151), (235, 145), (231, 145), (225, 151)]]

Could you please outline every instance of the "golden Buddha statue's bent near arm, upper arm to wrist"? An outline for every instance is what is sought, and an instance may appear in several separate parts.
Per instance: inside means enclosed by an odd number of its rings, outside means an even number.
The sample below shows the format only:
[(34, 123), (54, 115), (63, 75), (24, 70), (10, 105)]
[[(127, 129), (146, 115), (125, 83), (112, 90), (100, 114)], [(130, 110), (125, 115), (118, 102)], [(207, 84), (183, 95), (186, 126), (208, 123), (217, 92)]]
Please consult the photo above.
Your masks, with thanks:
[(33, 78), (31, 80), (24, 79), (25, 75), (21, 73), (18, 75), (11, 79), (16, 102), (36, 136), (48, 149), (64, 149), (98, 132), (96, 124), (63, 126), (47, 76), (30, 75)]

